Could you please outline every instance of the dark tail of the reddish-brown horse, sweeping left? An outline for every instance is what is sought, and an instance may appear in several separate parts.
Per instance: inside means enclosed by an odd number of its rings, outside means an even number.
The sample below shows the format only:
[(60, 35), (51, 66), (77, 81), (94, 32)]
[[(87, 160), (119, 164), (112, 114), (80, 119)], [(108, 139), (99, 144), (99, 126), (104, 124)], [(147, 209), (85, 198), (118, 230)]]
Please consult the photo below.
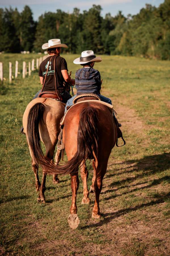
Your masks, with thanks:
[(80, 113), (80, 121), (77, 133), (77, 152), (74, 157), (62, 166), (56, 166), (52, 162), (45, 163), (47, 173), (75, 174), (83, 160), (89, 156), (97, 156), (98, 153), (98, 110), (87, 107)]

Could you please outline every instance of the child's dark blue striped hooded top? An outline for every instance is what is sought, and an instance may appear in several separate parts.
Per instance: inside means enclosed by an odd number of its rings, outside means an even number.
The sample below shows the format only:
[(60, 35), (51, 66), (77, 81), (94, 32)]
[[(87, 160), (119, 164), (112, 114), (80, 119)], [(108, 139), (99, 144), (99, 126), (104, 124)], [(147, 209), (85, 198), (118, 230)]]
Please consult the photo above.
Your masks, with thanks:
[(83, 67), (75, 73), (77, 95), (84, 93), (99, 94), (101, 89), (100, 72), (92, 67)]

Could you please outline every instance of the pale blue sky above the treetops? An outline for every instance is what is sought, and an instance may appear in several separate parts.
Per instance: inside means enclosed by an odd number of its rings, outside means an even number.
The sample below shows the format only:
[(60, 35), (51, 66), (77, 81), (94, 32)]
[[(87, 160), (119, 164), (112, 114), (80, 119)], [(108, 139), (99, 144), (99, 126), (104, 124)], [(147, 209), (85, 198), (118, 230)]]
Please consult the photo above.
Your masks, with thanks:
[(139, 13), (140, 9), (145, 7), (145, 4), (151, 4), (158, 7), (164, 0), (0, 0), (0, 8), (14, 9), (17, 7), (21, 12), (25, 5), (29, 5), (32, 10), (34, 20), (38, 20), (38, 17), (45, 12), (55, 12), (57, 9), (72, 13), (76, 7), (83, 10), (89, 10), (93, 4), (101, 5), (101, 15), (105, 16), (106, 13), (111, 13), (115, 16), (118, 11), (122, 11), (123, 15), (128, 14), (135, 15)]

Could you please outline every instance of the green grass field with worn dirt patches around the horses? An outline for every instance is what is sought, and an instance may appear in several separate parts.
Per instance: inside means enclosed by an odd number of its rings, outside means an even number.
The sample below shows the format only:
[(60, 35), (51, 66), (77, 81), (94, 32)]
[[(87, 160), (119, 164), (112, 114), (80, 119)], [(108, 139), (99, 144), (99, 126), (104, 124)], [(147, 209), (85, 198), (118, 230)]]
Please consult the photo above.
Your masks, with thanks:
[[(79, 227), (67, 223), (71, 205), (70, 177), (46, 181), (46, 204), (37, 203), (31, 159), (22, 115), (41, 88), (37, 71), (8, 83), (9, 61), (38, 55), (0, 55), (4, 85), (0, 90), (1, 247), (0, 255), (170, 255), (170, 62), (135, 57), (102, 56), (95, 67), (103, 79), (126, 139), (114, 147), (100, 195), (100, 220), (77, 194)], [(64, 55), (72, 77), (77, 55)], [(24, 58), (24, 59), (23, 59)], [(88, 163), (91, 185), (92, 166)], [(41, 170), (39, 171), (42, 176)]]

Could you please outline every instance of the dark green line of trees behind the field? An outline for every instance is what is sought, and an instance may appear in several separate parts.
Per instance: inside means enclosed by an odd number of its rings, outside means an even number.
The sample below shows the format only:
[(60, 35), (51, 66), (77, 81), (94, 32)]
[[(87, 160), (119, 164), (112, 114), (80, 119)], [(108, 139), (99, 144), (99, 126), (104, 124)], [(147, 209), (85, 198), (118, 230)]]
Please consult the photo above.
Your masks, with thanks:
[(127, 17), (121, 11), (102, 17), (101, 10), (100, 5), (83, 13), (77, 8), (72, 13), (57, 9), (36, 22), (27, 5), (21, 13), (11, 7), (0, 9), (0, 51), (43, 52), (43, 43), (60, 38), (69, 53), (93, 49), (97, 54), (170, 59), (170, 0), (157, 8), (146, 4)]

